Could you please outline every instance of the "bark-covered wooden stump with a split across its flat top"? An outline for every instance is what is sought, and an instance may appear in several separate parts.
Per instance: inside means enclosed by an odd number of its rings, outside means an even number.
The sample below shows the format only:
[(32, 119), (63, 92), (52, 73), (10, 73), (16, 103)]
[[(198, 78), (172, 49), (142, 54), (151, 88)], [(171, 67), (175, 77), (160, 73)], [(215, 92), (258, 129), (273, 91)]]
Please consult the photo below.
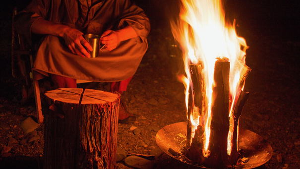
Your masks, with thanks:
[(120, 97), (61, 88), (45, 93), (44, 169), (115, 169)]

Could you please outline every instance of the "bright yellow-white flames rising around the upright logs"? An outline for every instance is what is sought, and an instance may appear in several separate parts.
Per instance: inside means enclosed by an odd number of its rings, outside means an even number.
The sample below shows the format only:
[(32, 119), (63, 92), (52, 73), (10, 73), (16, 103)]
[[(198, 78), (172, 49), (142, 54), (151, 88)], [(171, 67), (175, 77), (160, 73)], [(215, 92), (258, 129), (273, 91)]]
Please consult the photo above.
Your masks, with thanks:
[[(240, 70), (237, 69), (235, 63), (237, 60), (244, 62), (247, 45), (243, 38), (237, 36), (234, 25), (235, 23), (225, 22), (225, 12), (221, 0), (181, 0), (180, 17), (176, 21), (171, 21), (173, 36), (180, 44), (183, 55), (186, 74), (184, 80), (186, 107), (188, 105), (189, 88), (193, 89), (189, 65), (197, 64), (199, 61), (203, 64), (201, 73), (204, 75), (205, 96), (208, 99), (208, 105), (204, 106), (208, 106), (208, 109), (206, 109), (206, 112), (199, 112), (198, 114), (204, 114), (199, 118), (206, 119), (202, 150), (204, 157), (210, 155), (211, 108), (214, 103), (212, 100), (212, 87), (214, 85), (214, 66), (218, 57), (228, 58), (230, 61), (231, 103), (235, 103), (235, 98), (240, 93), (237, 91)], [(232, 107), (233, 104), (229, 106)], [(232, 110), (228, 113), (229, 116), (232, 115), (231, 112)], [(194, 120), (194, 118), (190, 117), (190, 120)], [(195, 121), (191, 121), (192, 125), (196, 125), (192, 127), (193, 130), (197, 128), (201, 119)], [(230, 148), (230, 145), (228, 147)], [(230, 151), (228, 150), (228, 152)]]

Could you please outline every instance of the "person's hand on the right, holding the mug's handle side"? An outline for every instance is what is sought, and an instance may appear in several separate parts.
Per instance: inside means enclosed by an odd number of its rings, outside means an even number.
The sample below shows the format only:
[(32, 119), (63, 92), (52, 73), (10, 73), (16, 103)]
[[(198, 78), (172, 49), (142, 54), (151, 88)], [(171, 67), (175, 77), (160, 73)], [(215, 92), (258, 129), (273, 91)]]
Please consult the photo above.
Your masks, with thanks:
[(101, 36), (103, 36), (101, 38), (101, 43), (105, 44), (104, 48), (106, 50), (112, 51), (113, 49), (117, 48), (117, 45), (119, 43), (119, 37), (118, 37), (118, 33), (116, 31), (107, 30), (107, 31), (103, 32), (103, 34)]

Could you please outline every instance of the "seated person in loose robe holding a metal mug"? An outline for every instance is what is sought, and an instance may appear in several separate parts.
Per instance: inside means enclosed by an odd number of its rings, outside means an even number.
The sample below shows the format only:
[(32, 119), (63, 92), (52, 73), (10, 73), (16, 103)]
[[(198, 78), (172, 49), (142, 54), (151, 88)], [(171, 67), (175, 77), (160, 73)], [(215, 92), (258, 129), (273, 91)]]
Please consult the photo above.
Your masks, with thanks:
[[(50, 76), (58, 88), (82, 79), (112, 82), (111, 92), (121, 94), (148, 48), (149, 19), (131, 0), (32, 0), (14, 19), (36, 52), (34, 80)], [(85, 34), (103, 36), (98, 57), (90, 58)], [(134, 121), (119, 111), (119, 122)]]

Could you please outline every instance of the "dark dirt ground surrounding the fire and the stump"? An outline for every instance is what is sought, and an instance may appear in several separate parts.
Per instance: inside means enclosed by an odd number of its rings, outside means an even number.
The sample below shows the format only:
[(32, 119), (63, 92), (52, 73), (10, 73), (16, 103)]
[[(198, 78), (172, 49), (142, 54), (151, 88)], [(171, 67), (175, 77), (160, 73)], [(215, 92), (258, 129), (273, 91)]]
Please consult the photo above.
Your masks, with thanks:
[[(24, 79), (11, 76), (11, 11), (9, 3), (0, 16), (0, 157), (1, 169), (41, 169), (44, 124), (37, 128), (40, 139), (21, 144), (26, 137), (20, 122), (36, 116), (33, 100), (21, 104)], [(166, 125), (186, 121), (184, 86), (177, 80), (181, 56), (163, 12), (165, 3), (136, 0), (151, 21), (149, 48), (136, 74), (121, 96), (137, 121), (120, 124), (118, 147), (129, 153), (149, 155), (158, 148), (155, 135)], [(268, 4), (268, 5), (266, 5)], [(239, 35), (249, 49), (246, 64), (252, 69), (244, 91), (250, 93), (240, 126), (263, 137), (273, 148), (272, 158), (258, 169), (298, 169), (300, 166), (300, 23), (296, 3), (233, 0), (230, 14), (237, 16)], [(266, 7), (262, 7), (266, 6)], [(235, 9), (236, 12), (233, 12)], [(43, 84), (41, 84), (43, 85)], [(96, 89), (108, 90), (107, 83)], [(140, 129), (135, 135), (130, 127)], [(11, 145), (9, 138), (16, 142)], [(14, 140), (13, 140), (14, 141)], [(131, 169), (123, 162), (120, 169)], [(167, 155), (156, 161), (155, 169), (187, 169)]]

